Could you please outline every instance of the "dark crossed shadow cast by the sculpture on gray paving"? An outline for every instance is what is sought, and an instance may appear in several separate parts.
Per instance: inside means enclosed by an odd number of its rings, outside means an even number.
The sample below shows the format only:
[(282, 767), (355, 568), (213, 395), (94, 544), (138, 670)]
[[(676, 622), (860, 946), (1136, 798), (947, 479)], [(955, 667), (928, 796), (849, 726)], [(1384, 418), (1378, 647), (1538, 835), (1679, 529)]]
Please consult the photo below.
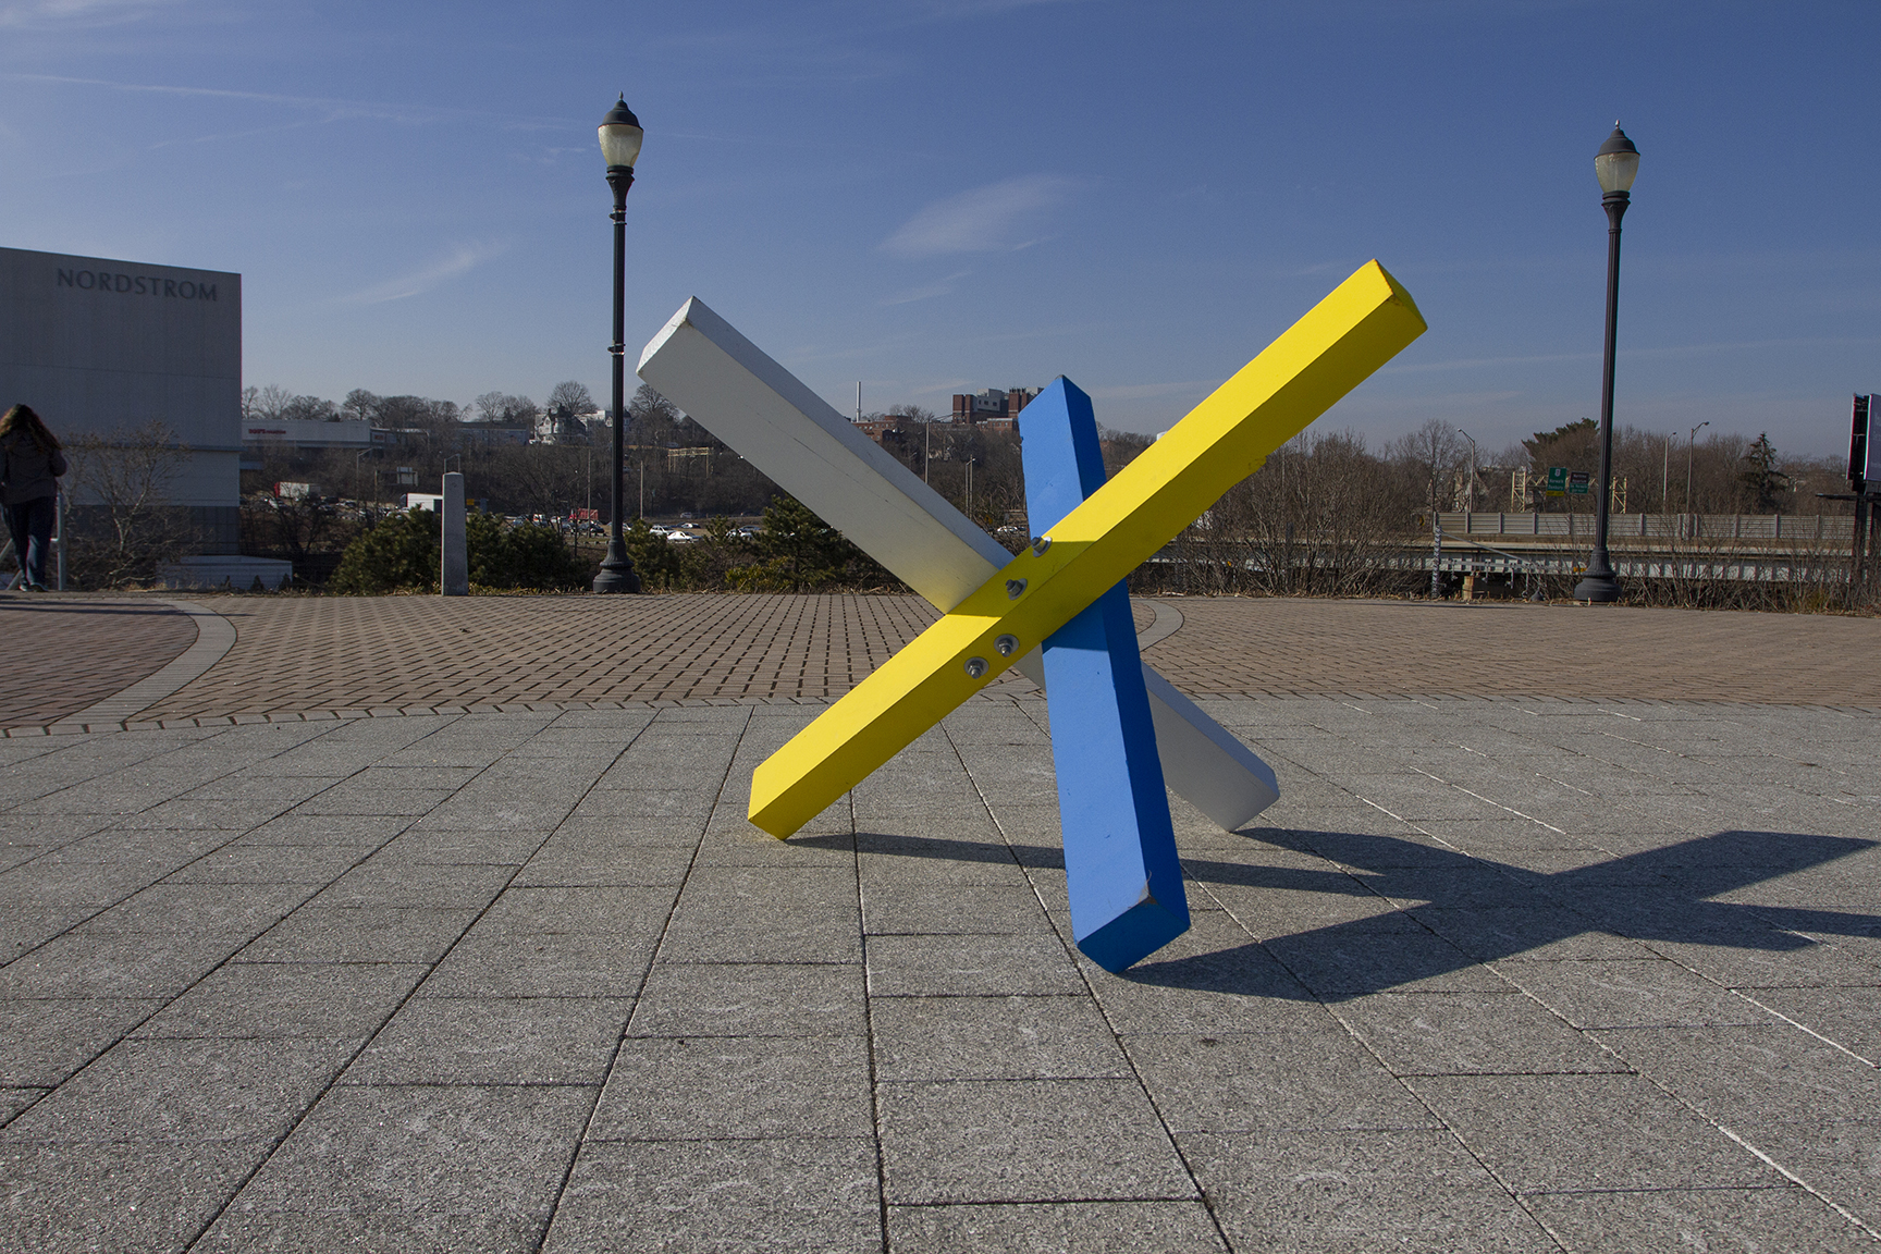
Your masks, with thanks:
[[(1315, 893), (1300, 916), (1351, 917), (1213, 953), (1138, 963), (1123, 980), (1245, 996), (1349, 1000), (1454, 974), (1580, 936), (1794, 951), (1825, 936), (1881, 936), (1881, 914), (1714, 901), (1821, 867), (1875, 840), (1785, 831), (1721, 831), (1557, 872), (1535, 872), (1398, 837), (1347, 831), (1258, 829), (1258, 842), (1317, 854), (1349, 867), (1300, 869), (1183, 857), (1191, 880), (1219, 886), (1258, 927), (1264, 891)], [(856, 848), (1063, 867), (1055, 846), (858, 833)], [(805, 842), (848, 842), (809, 837)], [(1234, 902), (1234, 897), (1243, 897)], [(1309, 902), (1302, 902), (1309, 904)]]

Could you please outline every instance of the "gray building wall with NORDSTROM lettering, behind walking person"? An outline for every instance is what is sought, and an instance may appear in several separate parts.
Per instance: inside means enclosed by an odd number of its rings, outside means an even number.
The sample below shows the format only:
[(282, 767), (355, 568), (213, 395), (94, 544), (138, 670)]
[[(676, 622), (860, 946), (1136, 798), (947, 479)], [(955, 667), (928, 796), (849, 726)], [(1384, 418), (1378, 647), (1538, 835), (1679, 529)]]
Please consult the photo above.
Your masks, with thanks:
[(203, 553), (241, 551), (241, 274), (0, 248), (0, 410), (19, 402), (66, 442), (167, 423), (171, 502)]

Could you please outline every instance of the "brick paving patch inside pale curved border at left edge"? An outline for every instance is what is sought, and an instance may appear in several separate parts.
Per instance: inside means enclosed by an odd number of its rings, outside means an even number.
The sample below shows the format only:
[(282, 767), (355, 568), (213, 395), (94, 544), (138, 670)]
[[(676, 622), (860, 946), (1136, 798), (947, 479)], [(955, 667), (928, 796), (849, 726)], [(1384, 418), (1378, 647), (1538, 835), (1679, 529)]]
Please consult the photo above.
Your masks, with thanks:
[(162, 669), (196, 641), (188, 615), (149, 598), (0, 594), (0, 728), (58, 722)]

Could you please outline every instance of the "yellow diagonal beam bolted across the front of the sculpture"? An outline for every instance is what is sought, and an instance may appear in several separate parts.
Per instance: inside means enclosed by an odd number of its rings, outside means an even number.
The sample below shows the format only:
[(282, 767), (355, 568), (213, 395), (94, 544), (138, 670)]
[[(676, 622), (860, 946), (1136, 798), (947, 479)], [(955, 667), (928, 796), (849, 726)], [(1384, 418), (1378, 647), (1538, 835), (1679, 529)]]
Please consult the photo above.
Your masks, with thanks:
[[(751, 822), (784, 839), (1070, 622), (1424, 333), (1377, 261), (1249, 361), (1048, 534), (822, 713), (751, 776)], [(1001, 637), (1012, 637), (1003, 651)], [(982, 673), (972, 660), (980, 660)]]

